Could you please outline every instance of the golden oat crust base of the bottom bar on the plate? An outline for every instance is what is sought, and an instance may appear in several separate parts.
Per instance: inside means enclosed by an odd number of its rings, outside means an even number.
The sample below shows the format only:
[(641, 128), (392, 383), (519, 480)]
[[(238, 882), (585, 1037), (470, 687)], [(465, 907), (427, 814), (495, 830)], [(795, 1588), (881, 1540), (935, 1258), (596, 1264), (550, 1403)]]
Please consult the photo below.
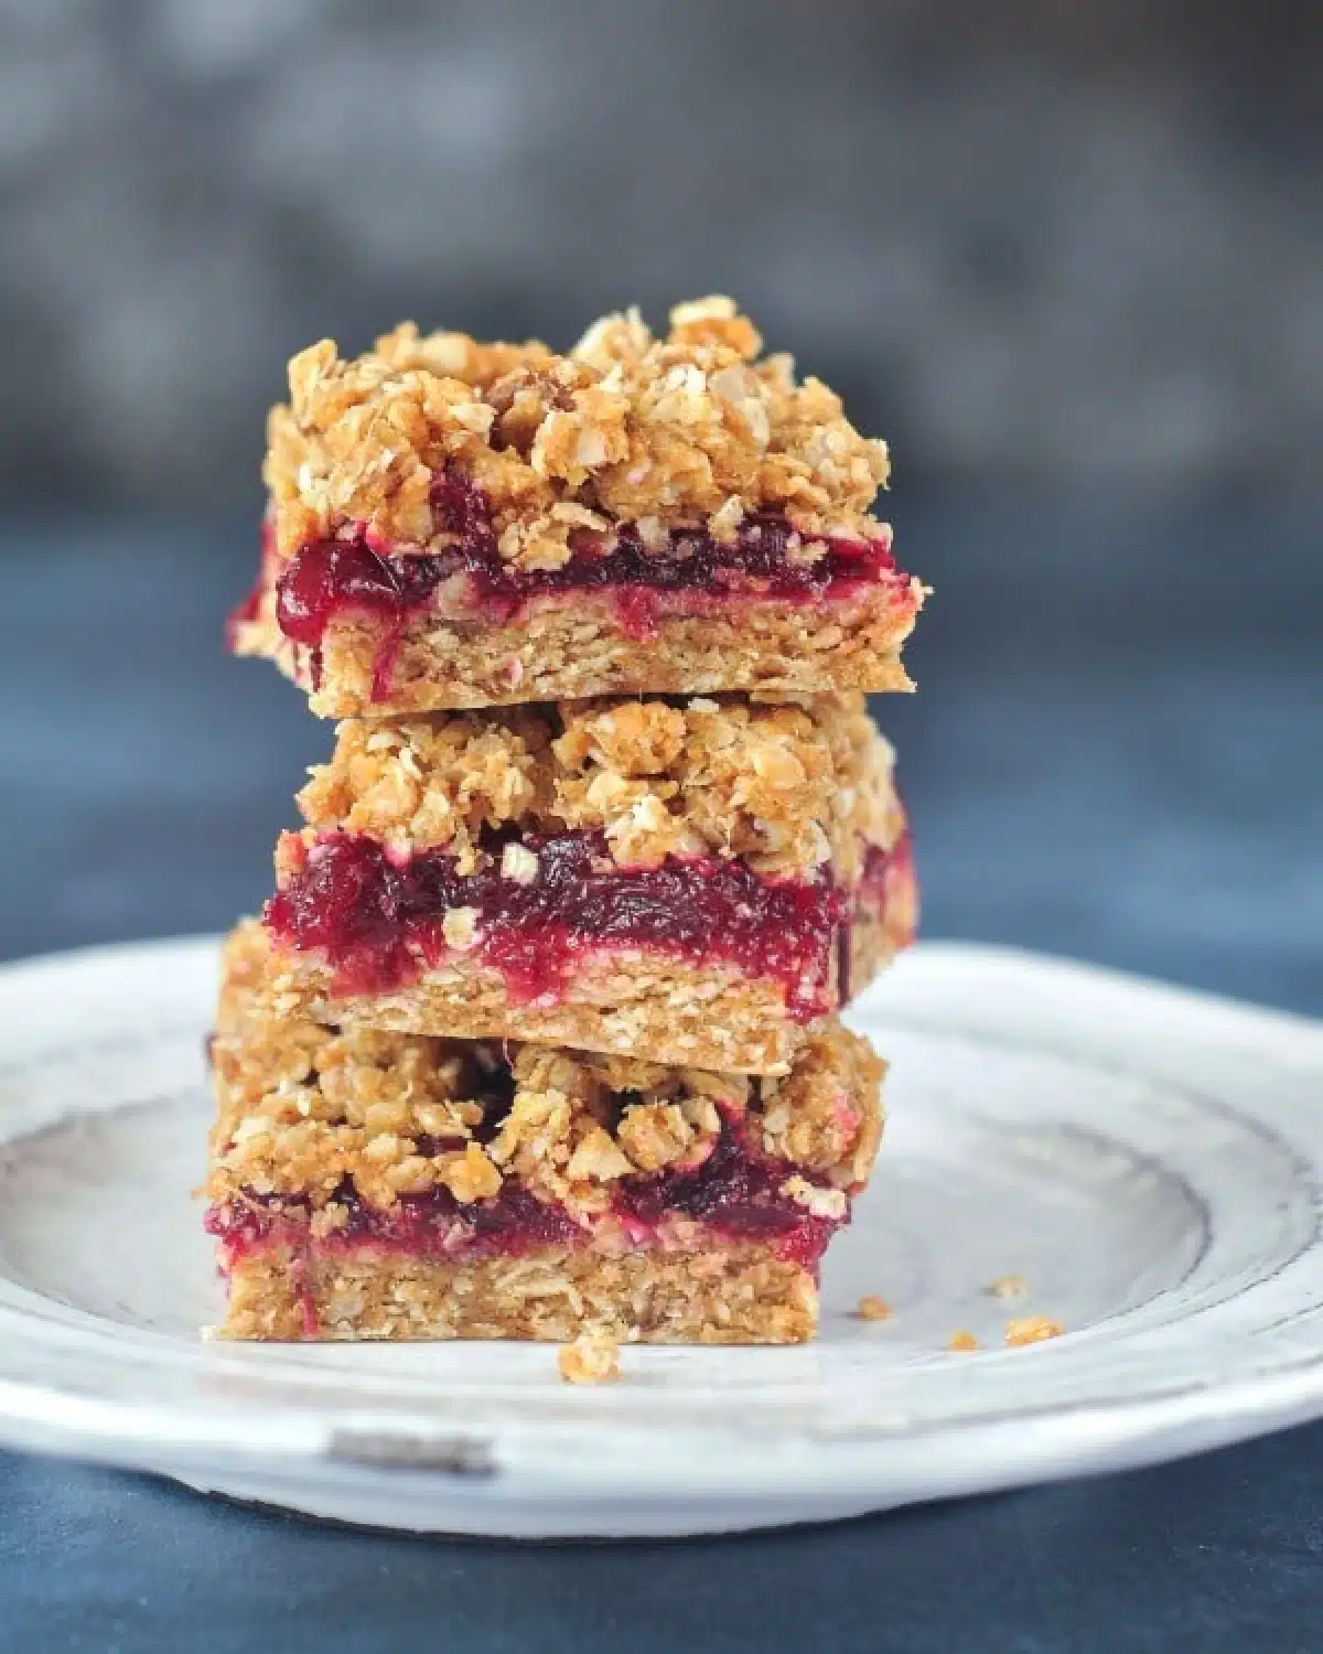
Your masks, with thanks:
[(599, 1255), (552, 1249), (455, 1265), (289, 1247), (230, 1275), (223, 1338), (566, 1343), (585, 1328), (619, 1343), (789, 1345), (817, 1328), (814, 1277), (771, 1247)]

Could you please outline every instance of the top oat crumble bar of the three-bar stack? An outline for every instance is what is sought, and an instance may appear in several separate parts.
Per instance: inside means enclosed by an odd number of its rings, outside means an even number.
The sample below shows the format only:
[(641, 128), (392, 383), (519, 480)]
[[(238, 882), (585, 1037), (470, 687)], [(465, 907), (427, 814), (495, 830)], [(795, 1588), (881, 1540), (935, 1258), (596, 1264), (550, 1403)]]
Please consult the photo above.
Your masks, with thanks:
[(728, 298), (567, 354), (324, 339), (273, 409), (236, 653), (332, 718), (622, 693), (908, 690), (923, 602), (872, 516), (886, 447)]

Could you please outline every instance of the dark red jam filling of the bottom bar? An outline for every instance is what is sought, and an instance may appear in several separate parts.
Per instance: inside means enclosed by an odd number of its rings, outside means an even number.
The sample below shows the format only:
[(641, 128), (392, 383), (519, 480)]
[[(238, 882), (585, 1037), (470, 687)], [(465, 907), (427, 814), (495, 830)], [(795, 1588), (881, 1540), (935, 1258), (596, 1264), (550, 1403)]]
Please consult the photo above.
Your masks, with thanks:
[[(817, 1269), (832, 1234), (848, 1217), (814, 1217), (784, 1194), (782, 1186), (795, 1171), (756, 1148), (743, 1123), (728, 1116), (701, 1166), (623, 1178), (612, 1214), (635, 1245), (652, 1244), (665, 1219), (678, 1216), (703, 1224), (724, 1242), (774, 1244), (787, 1262)], [(299, 1250), (311, 1245), (321, 1255), (372, 1247), (410, 1257), (480, 1262), (590, 1239), (590, 1231), (562, 1206), (539, 1201), (509, 1181), (494, 1199), (471, 1206), (461, 1206), (447, 1188), (435, 1188), (379, 1209), (367, 1206), (349, 1179), (334, 1199), (347, 1207), (347, 1221), (311, 1242), (303, 1222), (304, 1201), (255, 1193), (213, 1206), (205, 1219), (207, 1232), (225, 1244), (227, 1264), (273, 1244)]]

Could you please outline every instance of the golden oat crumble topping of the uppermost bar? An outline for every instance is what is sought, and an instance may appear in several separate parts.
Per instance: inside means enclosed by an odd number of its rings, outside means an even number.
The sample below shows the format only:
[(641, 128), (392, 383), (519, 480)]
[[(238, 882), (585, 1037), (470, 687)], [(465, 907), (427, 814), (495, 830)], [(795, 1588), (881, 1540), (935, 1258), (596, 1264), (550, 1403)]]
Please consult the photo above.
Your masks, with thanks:
[(289, 557), (347, 524), (395, 551), (440, 551), (437, 473), (456, 466), (491, 501), (501, 557), (561, 567), (576, 529), (610, 536), (746, 513), (786, 513), (814, 536), (876, 539), (870, 506), (886, 445), (862, 437), (822, 380), (797, 382), (787, 356), (729, 298), (671, 311), (653, 337), (638, 311), (594, 323), (561, 356), (544, 344), (422, 336), (412, 323), (346, 361), (331, 339), (289, 362), (289, 402), (268, 420), (275, 539)]

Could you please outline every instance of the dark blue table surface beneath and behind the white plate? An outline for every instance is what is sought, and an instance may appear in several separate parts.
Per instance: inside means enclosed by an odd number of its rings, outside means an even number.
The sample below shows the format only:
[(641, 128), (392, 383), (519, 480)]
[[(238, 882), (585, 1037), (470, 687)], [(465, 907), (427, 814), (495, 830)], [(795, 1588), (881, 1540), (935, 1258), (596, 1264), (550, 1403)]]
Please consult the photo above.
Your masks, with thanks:
[[(898, 508), (898, 514), (900, 508)], [(939, 597), (901, 749), (933, 936), (1318, 1012), (1323, 625), (1306, 506), (916, 501)], [(0, 951), (220, 930), (327, 731), (218, 615), (241, 529), (0, 539)], [(514, 1546), (319, 1528), (0, 1454), (0, 1649), (1323, 1647), (1323, 1426), (837, 1527)]]

